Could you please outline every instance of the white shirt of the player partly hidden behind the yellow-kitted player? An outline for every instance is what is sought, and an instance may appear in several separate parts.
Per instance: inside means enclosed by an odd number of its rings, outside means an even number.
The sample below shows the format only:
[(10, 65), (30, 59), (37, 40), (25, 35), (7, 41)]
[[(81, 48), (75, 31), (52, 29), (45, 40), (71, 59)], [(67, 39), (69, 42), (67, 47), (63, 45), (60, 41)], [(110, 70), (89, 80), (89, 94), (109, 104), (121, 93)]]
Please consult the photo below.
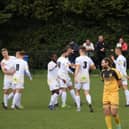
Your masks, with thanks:
[(114, 61), (116, 65), (116, 69), (122, 74), (122, 76), (127, 76), (127, 61), (123, 55), (119, 55), (117, 59)]

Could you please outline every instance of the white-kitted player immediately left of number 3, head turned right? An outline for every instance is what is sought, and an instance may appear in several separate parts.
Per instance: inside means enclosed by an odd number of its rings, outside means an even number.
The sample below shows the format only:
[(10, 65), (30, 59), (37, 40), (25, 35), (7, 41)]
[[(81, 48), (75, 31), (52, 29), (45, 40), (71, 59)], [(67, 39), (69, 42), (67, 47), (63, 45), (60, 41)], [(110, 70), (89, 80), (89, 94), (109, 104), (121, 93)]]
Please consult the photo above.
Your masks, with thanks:
[(61, 98), (62, 98), (62, 108), (66, 107), (66, 99), (67, 99), (67, 93), (66, 90), (68, 89), (70, 91), (70, 94), (76, 103), (75, 99), (75, 91), (72, 86), (72, 81), (69, 76), (69, 72), (73, 74), (73, 72), (70, 70), (70, 66), (73, 66), (69, 60), (68, 56), (71, 54), (72, 49), (70, 47), (67, 47), (63, 50), (63, 53), (61, 57), (58, 58), (57, 64), (58, 64), (58, 78), (59, 78), (59, 84), (61, 89)]

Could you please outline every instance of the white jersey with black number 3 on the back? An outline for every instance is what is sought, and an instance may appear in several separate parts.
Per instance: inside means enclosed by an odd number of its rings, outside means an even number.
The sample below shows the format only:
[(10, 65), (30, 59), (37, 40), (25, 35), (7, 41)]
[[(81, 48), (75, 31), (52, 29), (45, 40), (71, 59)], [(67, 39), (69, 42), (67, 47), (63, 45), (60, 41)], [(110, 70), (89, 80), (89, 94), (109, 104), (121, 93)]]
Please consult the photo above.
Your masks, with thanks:
[(88, 56), (79, 56), (75, 61), (76, 65), (80, 66), (77, 79), (79, 82), (89, 82), (89, 70), (91, 65), (94, 65), (94, 62)]

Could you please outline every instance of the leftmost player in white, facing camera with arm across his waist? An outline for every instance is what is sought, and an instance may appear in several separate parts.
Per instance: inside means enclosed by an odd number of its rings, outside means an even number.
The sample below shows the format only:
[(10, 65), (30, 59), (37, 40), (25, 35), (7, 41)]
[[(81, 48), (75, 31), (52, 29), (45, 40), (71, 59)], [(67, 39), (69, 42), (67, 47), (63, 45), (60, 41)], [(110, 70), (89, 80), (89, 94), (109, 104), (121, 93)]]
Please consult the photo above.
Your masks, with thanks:
[[(4, 73), (4, 97), (2, 106), (4, 109), (8, 108), (8, 100), (11, 99), (14, 96), (15, 88), (12, 85), (13, 81), (13, 74), (15, 73), (15, 69), (13, 67), (13, 62), (16, 59), (13, 56), (9, 56), (8, 50), (6, 48), (3, 48), (1, 50), (3, 60), (1, 61), (1, 69)], [(11, 93), (10, 93), (11, 89)]]

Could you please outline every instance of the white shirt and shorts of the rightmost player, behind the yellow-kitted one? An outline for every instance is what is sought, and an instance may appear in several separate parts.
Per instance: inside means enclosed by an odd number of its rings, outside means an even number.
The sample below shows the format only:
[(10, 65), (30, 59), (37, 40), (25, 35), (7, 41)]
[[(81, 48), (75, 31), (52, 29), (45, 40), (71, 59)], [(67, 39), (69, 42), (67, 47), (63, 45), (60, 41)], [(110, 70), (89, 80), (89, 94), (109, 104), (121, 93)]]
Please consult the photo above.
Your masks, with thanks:
[(119, 70), (119, 72), (122, 75), (122, 83), (123, 85), (128, 85), (127, 81), (127, 61), (126, 58), (123, 55), (119, 55), (117, 59), (114, 61), (116, 65), (116, 69)]

